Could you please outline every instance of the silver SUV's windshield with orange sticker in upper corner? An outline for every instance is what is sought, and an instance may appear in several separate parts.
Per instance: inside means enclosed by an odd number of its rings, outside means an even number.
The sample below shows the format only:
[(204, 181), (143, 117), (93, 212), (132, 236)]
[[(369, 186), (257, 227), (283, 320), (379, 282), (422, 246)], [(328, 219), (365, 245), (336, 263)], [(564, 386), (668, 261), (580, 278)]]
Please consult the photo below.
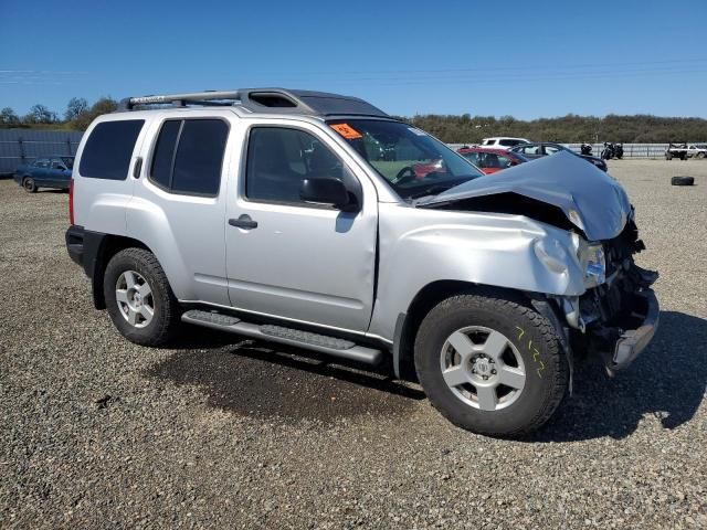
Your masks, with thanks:
[(426, 132), (400, 121), (329, 121), (403, 199), (433, 195), (483, 173)]

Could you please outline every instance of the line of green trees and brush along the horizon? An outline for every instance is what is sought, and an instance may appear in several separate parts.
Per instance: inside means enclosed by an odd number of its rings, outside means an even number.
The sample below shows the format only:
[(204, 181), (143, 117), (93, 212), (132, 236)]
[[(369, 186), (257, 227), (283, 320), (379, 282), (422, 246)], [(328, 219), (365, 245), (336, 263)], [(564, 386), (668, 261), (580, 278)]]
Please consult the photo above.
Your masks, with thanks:
[[(12, 108), (6, 107), (0, 110), (0, 127), (85, 130), (96, 116), (112, 113), (117, 106), (118, 103), (110, 97), (102, 97), (93, 105), (88, 105), (83, 97), (72, 97), (61, 116), (41, 104), (34, 105), (24, 116), (18, 116)], [(513, 116), (496, 118), (469, 114), (429, 114), (401, 119), (450, 144), (475, 144), (489, 136), (515, 136), (564, 144), (707, 141), (707, 119), (703, 118), (614, 114), (600, 118), (568, 114), (557, 118), (523, 120)]]

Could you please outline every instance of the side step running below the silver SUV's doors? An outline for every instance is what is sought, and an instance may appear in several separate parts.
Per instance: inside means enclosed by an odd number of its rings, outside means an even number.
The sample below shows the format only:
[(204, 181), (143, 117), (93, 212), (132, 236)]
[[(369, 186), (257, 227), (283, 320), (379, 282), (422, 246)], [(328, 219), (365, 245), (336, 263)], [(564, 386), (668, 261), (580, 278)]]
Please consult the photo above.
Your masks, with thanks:
[(245, 335), (256, 339), (279, 342), (283, 344), (296, 346), (307, 350), (328, 353), (366, 364), (378, 364), (383, 352), (372, 348), (356, 344), (350, 340), (328, 337), (326, 335), (302, 331), (299, 329), (273, 326), (270, 324), (258, 325), (244, 322), (240, 318), (220, 312), (202, 311), (192, 309), (181, 316), (182, 321), (207, 328), (220, 329), (232, 333)]

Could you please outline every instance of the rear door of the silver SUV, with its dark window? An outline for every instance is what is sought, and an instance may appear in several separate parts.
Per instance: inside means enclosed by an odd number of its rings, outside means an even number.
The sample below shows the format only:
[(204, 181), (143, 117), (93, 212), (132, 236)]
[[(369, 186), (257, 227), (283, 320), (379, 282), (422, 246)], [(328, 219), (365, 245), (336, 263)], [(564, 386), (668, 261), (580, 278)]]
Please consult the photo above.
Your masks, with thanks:
[(128, 232), (155, 253), (182, 301), (229, 305), (221, 189), (230, 128), (221, 116), (170, 116), (150, 125), (143, 149)]

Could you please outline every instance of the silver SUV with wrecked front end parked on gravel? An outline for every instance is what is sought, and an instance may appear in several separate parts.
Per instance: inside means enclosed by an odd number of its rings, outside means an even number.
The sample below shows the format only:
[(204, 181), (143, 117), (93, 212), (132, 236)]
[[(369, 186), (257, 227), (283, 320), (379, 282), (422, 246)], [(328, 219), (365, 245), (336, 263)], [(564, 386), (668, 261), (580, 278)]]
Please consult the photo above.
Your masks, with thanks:
[(188, 322), (388, 361), (477, 433), (537, 428), (576, 356), (619, 370), (657, 324), (610, 176), (559, 153), (483, 177), (352, 97), (124, 99), (86, 131), (70, 204), (68, 253), (128, 340)]

